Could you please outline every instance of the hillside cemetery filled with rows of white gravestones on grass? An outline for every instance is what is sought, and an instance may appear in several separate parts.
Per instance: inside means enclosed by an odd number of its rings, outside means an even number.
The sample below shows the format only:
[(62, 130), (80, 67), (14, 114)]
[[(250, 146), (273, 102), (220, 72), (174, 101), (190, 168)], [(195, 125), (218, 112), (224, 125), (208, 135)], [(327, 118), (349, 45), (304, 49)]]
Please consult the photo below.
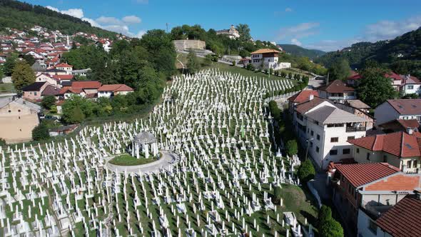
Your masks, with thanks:
[(0, 236), (314, 236), (318, 207), (263, 100), (293, 86), (206, 69), (146, 119), (0, 147)]

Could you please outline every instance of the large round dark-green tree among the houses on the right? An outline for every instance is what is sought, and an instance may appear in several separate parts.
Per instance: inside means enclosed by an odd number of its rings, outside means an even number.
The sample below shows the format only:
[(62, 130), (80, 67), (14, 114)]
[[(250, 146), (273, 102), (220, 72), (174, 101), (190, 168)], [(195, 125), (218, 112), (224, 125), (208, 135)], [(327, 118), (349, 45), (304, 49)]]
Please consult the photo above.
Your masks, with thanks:
[(367, 68), (361, 73), (362, 79), (357, 86), (358, 97), (372, 108), (397, 97), (390, 79), (385, 77), (385, 71), (378, 68)]

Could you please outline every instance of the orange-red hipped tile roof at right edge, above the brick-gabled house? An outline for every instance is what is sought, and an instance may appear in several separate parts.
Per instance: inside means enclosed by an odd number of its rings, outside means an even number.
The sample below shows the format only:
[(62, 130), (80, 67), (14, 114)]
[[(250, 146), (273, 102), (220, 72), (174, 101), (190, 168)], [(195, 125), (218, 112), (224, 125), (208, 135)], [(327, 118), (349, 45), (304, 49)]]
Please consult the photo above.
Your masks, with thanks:
[(403, 131), (376, 136), (348, 140), (355, 146), (366, 148), (370, 151), (385, 151), (397, 157), (421, 156), (420, 144), (417, 134), (408, 134)]

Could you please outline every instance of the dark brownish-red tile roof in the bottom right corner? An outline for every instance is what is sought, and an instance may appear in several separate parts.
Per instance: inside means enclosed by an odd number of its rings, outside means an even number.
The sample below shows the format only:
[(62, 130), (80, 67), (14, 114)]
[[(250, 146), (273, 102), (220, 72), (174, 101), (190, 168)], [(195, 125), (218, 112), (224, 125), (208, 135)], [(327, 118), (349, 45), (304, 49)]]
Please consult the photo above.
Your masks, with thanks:
[(376, 223), (391, 236), (421, 236), (421, 200), (407, 195), (377, 219)]

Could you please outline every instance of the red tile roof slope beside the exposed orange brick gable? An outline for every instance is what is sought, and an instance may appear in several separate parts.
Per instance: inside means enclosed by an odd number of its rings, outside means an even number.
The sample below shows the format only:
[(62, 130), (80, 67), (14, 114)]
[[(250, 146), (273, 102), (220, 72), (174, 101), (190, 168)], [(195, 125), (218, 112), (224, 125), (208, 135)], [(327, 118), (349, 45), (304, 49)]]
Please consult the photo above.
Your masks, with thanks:
[(400, 172), (399, 168), (388, 163), (335, 164), (335, 168), (355, 188)]

